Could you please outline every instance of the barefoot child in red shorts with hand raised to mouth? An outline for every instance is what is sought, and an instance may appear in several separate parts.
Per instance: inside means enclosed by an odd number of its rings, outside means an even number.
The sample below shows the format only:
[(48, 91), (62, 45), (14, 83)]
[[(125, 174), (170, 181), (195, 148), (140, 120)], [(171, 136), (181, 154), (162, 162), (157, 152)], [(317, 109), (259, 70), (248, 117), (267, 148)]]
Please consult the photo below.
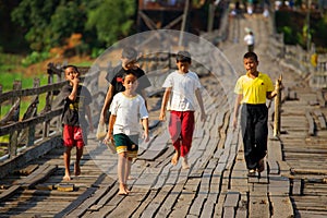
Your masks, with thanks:
[(71, 149), (76, 146), (76, 161), (74, 165), (75, 175), (81, 174), (80, 160), (83, 155), (83, 147), (87, 143), (86, 128), (88, 118), (89, 130), (93, 131), (93, 122), (90, 116), (89, 104), (92, 96), (86, 87), (78, 85), (80, 72), (76, 66), (68, 65), (64, 68), (65, 80), (69, 82), (62, 87), (62, 96), (65, 100), (62, 114), (63, 124), (63, 145), (65, 147), (63, 154), (64, 161), (64, 180), (71, 180), (70, 161)]

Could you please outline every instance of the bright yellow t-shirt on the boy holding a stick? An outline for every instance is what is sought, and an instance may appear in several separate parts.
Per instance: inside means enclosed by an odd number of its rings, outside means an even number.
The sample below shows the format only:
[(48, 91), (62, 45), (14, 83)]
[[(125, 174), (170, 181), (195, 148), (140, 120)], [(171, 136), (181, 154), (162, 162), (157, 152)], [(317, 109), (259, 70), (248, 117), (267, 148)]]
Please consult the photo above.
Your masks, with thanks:
[(272, 92), (274, 85), (267, 74), (258, 73), (256, 78), (242, 75), (235, 85), (234, 93), (242, 94), (242, 104), (266, 104), (267, 92)]

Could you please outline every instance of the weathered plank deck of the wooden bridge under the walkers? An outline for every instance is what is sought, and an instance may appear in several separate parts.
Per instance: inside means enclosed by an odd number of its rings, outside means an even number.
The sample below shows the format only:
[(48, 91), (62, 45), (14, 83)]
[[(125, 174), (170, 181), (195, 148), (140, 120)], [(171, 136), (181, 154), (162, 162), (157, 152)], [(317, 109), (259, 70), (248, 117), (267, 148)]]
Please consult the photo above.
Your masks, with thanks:
[[(118, 195), (117, 156), (94, 134), (85, 147), (82, 174), (66, 182), (60, 134), (53, 132), (1, 164), (0, 217), (326, 217), (326, 89), (308, 85), (310, 70), (290, 68), (270, 21), (261, 14), (225, 21), (227, 32), (219, 34), (227, 38), (219, 48), (226, 59), (211, 60), (217, 69), (209, 73), (198, 69), (205, 72), (201, 81), (208, 119), (196, 121), (191, 169), (170, 165), (173, 148), (166, 124), (160, 123), (152, 129), (150, 142), (141, 144), (129, 196)], [(255, 33), (258, 69), (272, 80), (282, 74), (284, 86), (280, 134), (272, 135), (269, 119), (266, 170), (261, 178), (246, 175), (240, 130), (231, 128), (235, 81), (225, 80), (229, 73), (233, 78), (244, 72), (244, 27)], [(190, 49), (205, 52), (203, 47)], [(150, 120), (157, 119), (160, 101), (159, 94), (148, 98)], [(272, 118), (274, 101), (268, 104)]]

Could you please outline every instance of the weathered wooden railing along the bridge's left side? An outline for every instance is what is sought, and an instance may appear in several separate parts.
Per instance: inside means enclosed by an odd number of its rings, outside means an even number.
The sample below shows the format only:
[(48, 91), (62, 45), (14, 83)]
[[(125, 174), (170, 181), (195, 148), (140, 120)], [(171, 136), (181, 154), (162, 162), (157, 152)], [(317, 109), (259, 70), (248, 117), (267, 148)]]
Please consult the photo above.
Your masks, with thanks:
[[(99, 71), (88, 72), (88, 69), (78, 68), (83, 75), (82, 82), (84, 81), (84, 85), (92, 89), (92, 94), (97, 95)], [(63, 81), (61, 66), (50, 63), (47, 72), (48, 85), (39, 86), (39, 78), (35, 78), (33, 88), (22, 89), (22, 82), (15, 81), (13, 90), (0, 93), (0, 106), (5, 101), (12, 102), (9, 112), (0, 120), (0, 136), (9, 135), (5, 158), (14, 158), (19, 147), (28, 148), (35, 145), (37, 140), (48, 138), (50, 133), (60, 134), (63, 100), (58, 95), (66, 82)], [(55, 76), (57, 76), (56, 83), (53, 83)], [(45, 108), (38, 112), (37, 108), (41, 96), (46, 96)], [(21, 101), (24, 97), (32, 97), (33, 100), (26, 111), (23, 111), (23, 118), (20, 119)]]

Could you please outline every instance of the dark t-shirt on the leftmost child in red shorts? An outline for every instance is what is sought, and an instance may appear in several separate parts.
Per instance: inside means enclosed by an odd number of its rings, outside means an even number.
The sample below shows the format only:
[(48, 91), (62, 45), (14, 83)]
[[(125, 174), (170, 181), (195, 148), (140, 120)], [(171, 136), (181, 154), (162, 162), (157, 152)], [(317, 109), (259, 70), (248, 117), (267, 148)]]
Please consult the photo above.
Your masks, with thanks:
[(85, 119), (85, 106), (92, 102), (92, 96), (85, 86), (78, 85), (77, 96), (74, 101), (68, 97), (72, 93), (73, 86), (65, 84), (61, 92), (64, 99), (64, 110), (62, 114), (62, 124), (74, 126), (87, 126)]

